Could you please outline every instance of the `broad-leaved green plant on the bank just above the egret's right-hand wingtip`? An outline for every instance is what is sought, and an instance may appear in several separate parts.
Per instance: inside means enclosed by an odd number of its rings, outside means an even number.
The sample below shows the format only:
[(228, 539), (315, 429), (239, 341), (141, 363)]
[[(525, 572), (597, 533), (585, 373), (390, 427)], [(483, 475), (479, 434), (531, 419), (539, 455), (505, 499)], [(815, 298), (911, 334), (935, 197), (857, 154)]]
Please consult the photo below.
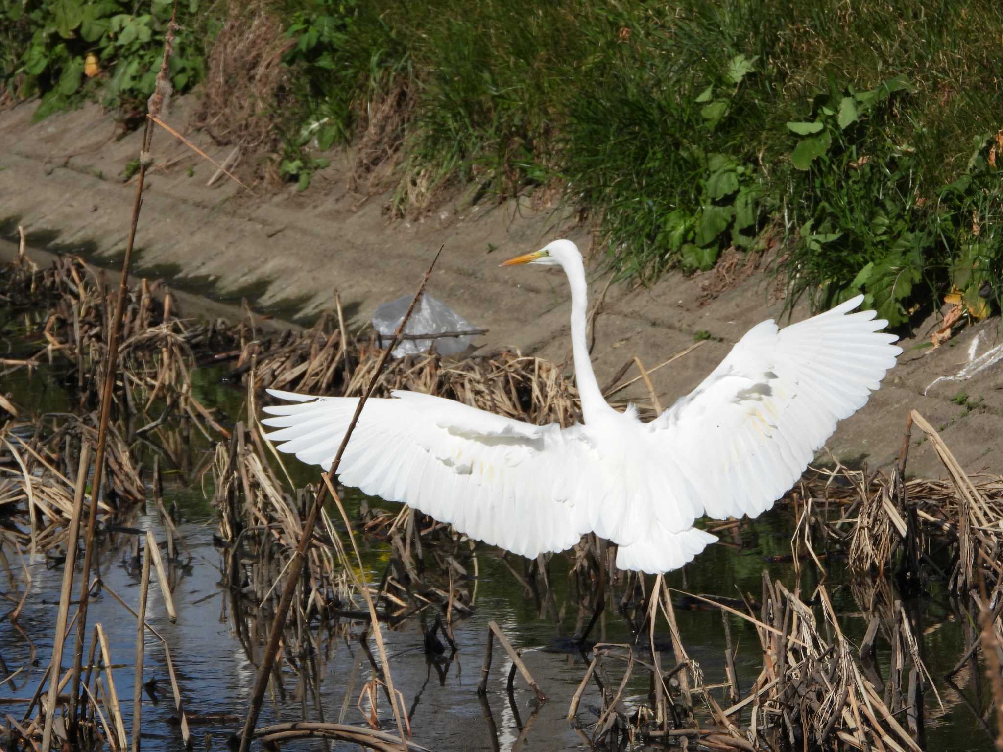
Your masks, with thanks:
[(893, 142), (885, 123), (901, 77), (873, 89), (815, 96), (808, 118), (788, 121), (799, 214), (805, 217), (786, 270), (796, 297), (820, 307), (864, 293), (892, 326), (909, 320), (917, 293), (938, 270), (926, 215), (916, 197), (914, 149)]

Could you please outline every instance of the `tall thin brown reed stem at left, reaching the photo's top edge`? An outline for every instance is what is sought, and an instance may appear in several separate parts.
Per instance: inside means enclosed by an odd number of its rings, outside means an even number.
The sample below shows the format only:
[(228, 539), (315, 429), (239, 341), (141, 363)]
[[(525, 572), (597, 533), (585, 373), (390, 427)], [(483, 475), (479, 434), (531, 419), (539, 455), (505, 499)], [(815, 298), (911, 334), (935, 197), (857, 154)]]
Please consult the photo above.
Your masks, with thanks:
[[(175, 2), (175, 12), (171, 16), (168, 33), (163, 40), (163, 58), (160, 72), (157, 74), (156, 91), (150, 96), (147, 110), (156, 110), (149, 114), (159, 114), (163, 104), (161, 89), (163, 79), (171, 62), (172, 45), (175, 38), (175, 18), (178, 15), (178, 3)], [(170, 84), (169, 84), (170, 86)], [(158, 96), (159, 95), (159, 96)], [(122, 316), (125, 312), (125, 298), (128, 292), (128, 272), (132, 264), (132, 249), (135, 246), (135, 230), (139, 225), (139, 211), (142, 209), (142, 189), (146, 179), (146, 167), (149, 163), (149, 147), (153, 140), (153, 123), (146, 119), (142, 133), (142, 148), (139, 151), (139, 174), (135, 183), (135, 198), (132, 200), (132, 220), (129, 223), (128, 239), (125, 241), (125, 256), (122, 259), (121, 276), (118, 279), (118, 295), (115, 298), (115, 311), (111, 317), (111, 328), (108, 330), (108, 349), (104, 356), (104, 384), (101, 388), (101, 417), (97, 428), (97, 451), (94, 456), (94, 479), (91, 484), (90, 511), (87, 514), (87, 533), (83, 551), (83, 577), (80, 588), (79, 618), (76, 623), (76, 648), (73, 654), (73, 681), (69, 698), (69, 738), (76, 738), (77, 705), (80, 694), (80, 664), (83, 660), (83, 641), (87, 628), (87, 602), (90, 597), (88, 581), (90, 579), (91, 557), (94, 550), (94, 528), (97, 523), (97, 501), (101, 497), (101, 470), (104, 467), (104, 452), (108, 438), (108, 420), (111, 415), (111, 401), (115, 387), (115, 372), (118, 370), (118, 335), (121, 332)], [(70, 540), (68, 545), (76, 545), (76, 540)], [(45, 752), (48, 752), (46, 749)]]

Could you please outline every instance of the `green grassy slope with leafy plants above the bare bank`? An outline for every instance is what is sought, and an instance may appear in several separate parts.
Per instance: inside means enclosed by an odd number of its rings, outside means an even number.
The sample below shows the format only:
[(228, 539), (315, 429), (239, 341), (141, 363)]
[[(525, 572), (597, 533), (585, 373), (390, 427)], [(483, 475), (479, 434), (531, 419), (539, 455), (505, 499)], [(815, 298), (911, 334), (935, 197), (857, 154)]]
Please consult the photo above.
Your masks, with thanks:
[(778, 242), (790, 300), (863, 292), (895, 325), (954, 287), (999, 308), (994, 0), (268, 7), (290, 40), (276, 167), (302, 189), (318, 150), (361, 138), (395, 165), (399, 215), (562, 186), (624, 279)]

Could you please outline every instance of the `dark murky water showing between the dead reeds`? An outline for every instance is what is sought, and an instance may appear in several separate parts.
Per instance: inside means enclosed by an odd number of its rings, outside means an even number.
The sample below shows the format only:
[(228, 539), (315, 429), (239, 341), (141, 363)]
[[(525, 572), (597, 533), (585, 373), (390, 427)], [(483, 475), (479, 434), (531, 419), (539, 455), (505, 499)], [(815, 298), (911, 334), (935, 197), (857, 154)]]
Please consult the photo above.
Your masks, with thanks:
[[(0, 315), (0, 330), (7, 322)], [(9, 338), (8, 338), (9, 339)], [(197, 398), (207, 407), (217, 407), (237, 419), (244, 394), (220, 379), (219, 370), (196, 372), (194, 384)], [(45, 368), (29, 375), (20, 371), (4, 378), (0, 391), (28, 412), (42, 416), (46, 412), (69, 411), (74, 408), (72, 397)], [(215, 510), (207, 500), (212, 496), (212, 477), (200, 477), (193, 468), (213, 451), (211, 441), (198, 432), (188, 438), (188, 459), (164, 475), (164, 501), (177, 503), (181, 512), (180, 529), (192, 553), (192, 560), (175, 569), (174, 598), (178, 621), (166, 617), (162, 600), (154, 587), (150, 588), (147, 619), (171, 646), (185, 708), (196, 719), (193, 739), (197, 749), (224, 748), (227, 737), (241, 727), (251, 687), (255, 678), (255, 645), (253, 655), (235, 634), (231, 619), (230, 596), (221, 585), (221, 553), (213, 544), (216, 529)], [(316, 479), (315, 468), (307, 468), (293, 460), (290, 465), (294, 481), (302, 484)], [(148, 477), (148, 473), (147, 473)], [(349, 497), (349, 512), (358, 509), (359, 497)], [(380, 506), (392, 506), (379, 501)], [(781, 579), (788, 587), (796, 580), (792, 562), (767, 562), (767, 556), (782, 556), (790, 552), (793, 529), (789, 506), (763, 514), (759, 519), (743, 524), (740, 537), (731, 544), (708, 548), (684, 571), (667, 578), (671, 588), (690, 593), (705, 593), (727, 598), (750, 594), (758, 598), (761, 573)], [(140, 529), (151, 529), (158, 539), (164, 530), (150, 507), (139, 508), (135, 517), (126, 522)], [(389, 545), (361, 538), (365, 561), (371, 577), (378, 579), (389, 556)], [(138, 567), (130, 560), (128, 533), (110, 536), (99, 560), (105, 590), (91, 603), (89, 621), (100, 623), (107, 633), (114, 681), (125, 715), (125, 727), (130, 728), (132, 707), (133, 652), (135, 622), (108, 591), (114, 591), (125, 602), (135, 605), (138, 600)], [(739, 543), (735, 545), (735, 543)], [(7, 548), (7, 600), (11, 606), (26, 586), (18, 555)], [(183, 558), (184, 560), (184, 558)], [(0, 656), (5, 675), (24, 667), (16, 677), (0, 686), (0, 704), (4, 712), (17, 719), (26, 708), (24, 700), (34, 692), (52, 650), (52, 632), (56, 618), (59, 583), (62, 570), (48, 569), (43, 557), (24, 561), (31, 578), (31, 594), (19, 620), (20, 630), (9, 620), (0, 622)], [(510, 562), (522, 572), (519, 557)], [(433, 750), (556, 750), (587, 748), (591, 731), (576, 731), (566, 720), (572, 695), (582, 681), (585, 664), (580, 653), (573, 650), (567, 639), (574, 633), (578, 607), (572, 599), (568, 578), (569, 560), (565, 555), (554, 557), (551, 582), (558, 616), (546, 608), (542, 611), (528, 590), (519, 582), (510, 566), (496, 549), (477, 548), (478, 578), (475, 586), (475, 610), (471, 617), (453, 624), (458, 651), (452, 658), (429, 658), (424, 651), (422, 620), (412, 618), (396, 629), (384, 629), (384, 637), (396, 688), (403, 693), (409, 710), (413, 740)], [(854, 596), (846, 577), (845, 562), (833, 557), (825, 562), (828, 577), (825, 584), (833, 606), (841, 614), (841, 628), (859, 643), (868, 626), (862, 606)], [(809, 563), (801, 568), (801, 592), (807, 598), (818, 582), (817, 571)], [(980, 719), (970, 708), (976, 700), (981, 678), (971, 667), (956, 675), (957, 687), (942, 681), (954, 667), (964, 650), (964, 638), (955, 612), (945, 594), (930, 586), (931, 593), (920, 600), (907, 602), (909, 609), (919, 614), (924, 627), (924, 658), (940, 692), (943, 707), (933, 693), (926, 697), (927, 743), (932, 750), (992, 749), (992, 742), (980, 726)], [(433, 619), (434, 617), (432, 617)], [(677, 611), (684, 645), (690, 657), (698, 661), (708, 686), (724, 681), (724, 624), (716, 610)], [(511, 663), (495, 647), (485, 700), (476, 694), (483, 659), (486, 625), (494, 620), (514, 645), (523, 651), (523, 658), (547, 693), (549, 701), (538, 707), (534, 694), (517, 678), (515, 692), (507, 692)], [(754, 629), (746, 622), (727, 617), (733, 642), (737, 645), (738, 681), (745, 691), (761, 666), (759, 642)], [(664, 622), (661, 623), (664, 625)], [(356, 633), (358, 630), (356, 630)], [(608, 609), (597, 624), (592, 638), (602, 642), (626, 643), (632, 640), (629, 627), (615, 609)], [(667, 636), (656, 635), (667, 644)], [(362, 685), (371, 676), (368, 659), (357, 640), (318, 633), (323, 661), (323, 676), (319, 695), (304, 692), (298, 677), (288, 664), (283, 672), (283, 687), (269, 695), (259, 725), (274, 720), (339, 721), (364, 725), (364, 715), (357, 707)], [(67, 641), (67, 651), (72, 640)], [(375, 647), (372, 647), (375, 654)], [(671, 660), (663, 656), (664, 662)], [(67, 659), (64, 657), (64, 665)], [(180, 729), (174, 720), (174, 703), (164, 664), (162, 646), (147, 633), (144, 680), (155, 680), (155, 690), (144, 695), (143, 738), (149, 750), (181, 749)], [(619, 676), (614, 677), (619, 681)], [(273, 685), (274, 687), (274, 685)], [(711, 690), (722, 705), (723, 689)], [(623, 703), (633, 710), (646, 701), (649, 678), (637, 673), (628, 683)], [(580, 718), (594, 720), (593, 709), (600, 705), (595, 687), (586, 688)], [(380, 718), (386, 729), (393, 727), (392, 717), (384, 698), (380, 698)], [(220, 716), (215, 723), (201, 724), (199, 716)], [(228, 718), (228, 716), (230, 716)], [(984, 724), (983, 724), (984, 725)], [(321, 742), (298, 743), (300, 746), (325, 747)], [(340, 748), (331, 744), (328, 749)], [(347, 745), (345, 748), (348, 748)]]

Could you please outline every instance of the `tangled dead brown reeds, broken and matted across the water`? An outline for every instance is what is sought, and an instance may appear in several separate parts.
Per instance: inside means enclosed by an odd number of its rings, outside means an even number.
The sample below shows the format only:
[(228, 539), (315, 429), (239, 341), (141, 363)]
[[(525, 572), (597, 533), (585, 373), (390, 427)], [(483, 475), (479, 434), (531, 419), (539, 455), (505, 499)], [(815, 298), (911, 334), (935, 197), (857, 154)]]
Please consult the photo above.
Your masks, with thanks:
[[(18, 320), (24, 319), (25, 332), (37, 348), (24, 358), (8, 359), (8, 372), (52, 363), (65, 374), (67, 386), (76, 388), (81, 402), (92, 401), (101, 361), (107, 357), (103, 332), (113, 303), (102, 292), (100, 274), (78, 259), (64, 258), (39, 270), (22, 258), (4, 275), (6, 302), (19, 312)], [(793, 581), (764, 574), (761, 592), (734, 594), (737, 599), (720, 594), (673, 596), (661, 578), (618, 572), (613, 566), (615, 546), (590, 535), (570, 554), (568, 596), (559, 601), (553, 556), (529, 561), (499, 555), (419, 512), (388, 510), (365, 499), (353, 519), (333, 486), (339, 513), (332, 516), (322, 508), (316, 530), (305, 539), (318, 486), (292, 483), (256, 420), (224, 425), (225, 419), (211, 406), (192, 397), (191, 388), (198, 364), (229, 364), (229, 380), (243, 382), (249, 416), (258, 414), (264, 386), (359, 395), (372, 384), (374, 395), (413, 389), (532, 422), (568, 424), (578, 410), (577, 395), (560, 369), (518, 353), (492, 353), (462, 361), (434, 354), (411, 356), (380, 371), (384, 351), (379, 343), (371, 337), (349, 337), (337, 307), (311, 329), (278, 334), (263, 331), (250, 315), (238, 324), (179, 318), (170, 294), (159, 298), (155, 292), (155, 284), (145, 283), (127, 291), (115, 420), (106, 439), (106, 491), (98, 506), (103, 532), (96, 539), (108, 550), (133, 549), (136, 567), (147, 573), (152, 567), (170, 590), (181, 577), (176, 562), (184, 559), (181, 550), (186, 547), (159, 497), (160, 468), (171, 466), (179, 468), (187, 482), (203, 477), (213, 489), (228, 621), (252, 664), (258, 664), (261, 643), (269, 637), (266, 625), (276, 616), (280, 593), (294, 589), (282, 632), (285, 647), (276, 660), (297, 678), (293, 692), (305, 698), (304, 721), (258, 729), (255, 738), (271, 742), (314, 736), (399, 749), (397, 739), (412, 731), (407, 703), (417, 698), (405, 698), (393, 688), (388, 664), (369, 650), (369, 638), (420, 621), (429, 665), (445, 681), (456, 656), (453, 633), (473, 614), (484, 556), (500, 560), (533, 600), (540, 618), (552, 621), (569, 650), (580, 656), (582, 680), (568, 717), (583, 741), (597, 748), (644, 742), (722, 750), (919, 750), (925, 745), (925, 708), (932, 709), (931, 715), (941, 703), (964, 701), (984, 708), (985, 699), (995, 692), (986, 712), (1003, 712), (1003, 478), (969, 477), (916, 413), (910, 425), (922, 434), (911, 440), (932, 442), (950, 479), (904, 480), (905, 451), (900, 467), (888, 477), (840, 467), (806, 477), (790, 495), (796, 520), (790, 554), (770, 559), (792, 561)], [(59, 566), (71, 547), (67, 535), (74, 509), (79, 515), (89, 508), (87, 494), (79, 490), (83, 486), (76, 459), (84, 445), (97, 439), (96, 416), (84, 411), (38, 419), (24, 415), (9, 400), (3, 406), (12, 415), (22, 415), (0, 430), (0, 513), (8, 522), (4, 542), (20, 552), (46, 553)], [(215, 452), (193, 461), (193, 436), (215, 444)], [(166, 539), (160, 544), (151, 536), (121, 531), (129, 529), (150, 495), (164, 520)], [(715, 531), (733, 533), (730, 544), (740, 546), (743, 524), (728, 521)], [(388, 553), (376, 581), (363, 576), (355, 548), (359, 535)], [(139, 551), (140, 538), (146, 540), (148, 558)], [(303, 539), (305, 567), (291, 580), (290, 563)], [(75, 545), (72, 549), (75, 553)], [(846, 617), (833, 607), (825, 583), (843, 558), (852, 572), (849, 588), (867, 624), (858, 642), (845, 632)], [(804, 590), (797, 576), (807, 570), (821, 579), (810, 590)], [(148, 576), (141, 582), (145, 593)], [(946, 678), (932, 676), (924, 664), (922, 644), (931, 627), (923, 624), (915, 608), (917, 596), (933, 583), (943, 584), (951, 594), (958, 621), (966, 625), (964, 653)], [(27, 597), (26, 591), (22, 604)], [(142, 611), (144, 600), (135, 611)], [(727, 649), (720, 676), (709, 676), (688, 655), (675, 615), (680, 606), (721, 611)], [(565, 635), (561, 625), (569, 610), (575, 626)], [(630, 642), (593, 642), (598, 625), (611, 613), (624, 620), (633, 636)], [(761, 669), (751, 684), (735, 669), (737, 645), (730, 630), (736, 624), (751, 625), (762, 653)], [(116, 709), (111, 656), (104, 651), (99, 627), (94, 629), (92, 657), (82, 664), (88, 673), (81, 677), (86, 689), (74, 733), (88, 746), (106, 740), (122, 748), (123, 715)], [(517, 675), (522, 674), (539, 703), (547, 702), (553, 692), (535, 680), (496, 624), (486, 634), (488, 656), (497, 642), (512, 659), (510, 708), (525, 743), (540, 706), (525, 720), (520, 715), (526, 711), (513, 694)], [(358, 666), (353, 671), (346, 698), (352, 698), (370, 729), (344, 724), (351, 705), (347, 700), (336, 720), (326, 718), (323, 709), (327, 653), (317, 646), (346, 638), (359, 641), (364, 648), (360, 657), (369, 665), (368, 678)], [(968, 700), (953, 683), (983, 670), (989, 682), (975, 700)], [(485, 693), (490, 672), (491, 662), (485, 658)], [(280, 695), (286, 692), (281, 687), (285, 673), (274, 674), (280, 677)], [(69, 674), (57, 687), (59, 693)], [(44, 679), (39, 698), (43, 685)], [(639, 693), (639, 685), (648, 687), (647, 696)], [(184, 690), (176, 681), (173, 689), (177, 717), (189, 739)], [(59, 693), (51, 703), (68, 707), (68, 696)], [(598, 707), (587, 706), (590, 696), (598, 697)], [(53, 715), (46, 712), (48, 707), (44, 700), (30, 705), (18, 726), (10, 726), (21, 735), (18, 738), (37, 744)], [(486, 701), (482, 708), (487, 728), (495, 728)], [(65, 712), (65, 717), (75, 717)], [(381, 715), (385, 718), (388, 712), (400, 724), (398, 737), (379, 731), (385, 723)], [(992, 723), (987, 716), (984, 725), (990, 734)], [(64, 725), (53, 725), (56, 740), (69, 733)]]

